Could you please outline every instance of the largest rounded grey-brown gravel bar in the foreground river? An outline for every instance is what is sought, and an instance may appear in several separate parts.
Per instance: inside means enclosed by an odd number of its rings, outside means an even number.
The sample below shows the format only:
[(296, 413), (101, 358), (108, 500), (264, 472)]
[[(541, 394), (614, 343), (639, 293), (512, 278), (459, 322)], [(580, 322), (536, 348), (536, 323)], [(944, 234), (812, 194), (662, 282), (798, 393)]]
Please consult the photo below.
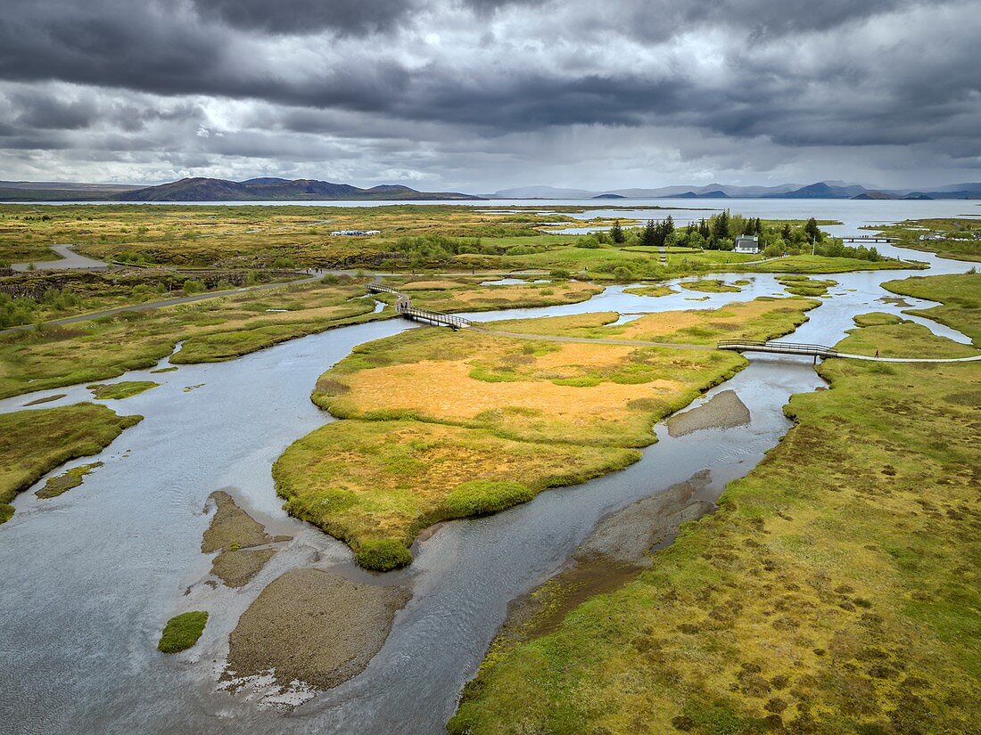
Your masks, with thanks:
[(354, 582), (321, 569), (287, 571), (238, 619), (227, 675), (272, 670), (281, 686), (335, 687), (364, 670), (411, 598), (404, 587)]

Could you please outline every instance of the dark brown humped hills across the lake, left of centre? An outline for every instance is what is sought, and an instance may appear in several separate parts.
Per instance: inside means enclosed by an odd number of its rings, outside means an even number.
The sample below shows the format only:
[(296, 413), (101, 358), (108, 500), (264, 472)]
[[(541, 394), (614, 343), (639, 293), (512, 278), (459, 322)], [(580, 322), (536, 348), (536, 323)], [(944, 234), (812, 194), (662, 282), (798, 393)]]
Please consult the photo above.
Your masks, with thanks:
[(408, 186), (383, 184), (362, 189), (350, 184), (298, 178), (181, 178), (180, 181), (124, 192), (121, 202), (281, 202), (303, 200), (479, 200), (481, 197), (455, 191), (416, 191)]

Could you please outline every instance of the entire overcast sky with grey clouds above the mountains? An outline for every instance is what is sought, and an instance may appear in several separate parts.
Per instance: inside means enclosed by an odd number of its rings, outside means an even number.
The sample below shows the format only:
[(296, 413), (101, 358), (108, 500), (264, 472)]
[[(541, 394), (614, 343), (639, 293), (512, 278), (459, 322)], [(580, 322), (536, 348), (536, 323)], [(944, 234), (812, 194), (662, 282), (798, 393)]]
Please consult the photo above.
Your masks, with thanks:
[(981, 0), (2, 0), (0, 179), (981, 180)]

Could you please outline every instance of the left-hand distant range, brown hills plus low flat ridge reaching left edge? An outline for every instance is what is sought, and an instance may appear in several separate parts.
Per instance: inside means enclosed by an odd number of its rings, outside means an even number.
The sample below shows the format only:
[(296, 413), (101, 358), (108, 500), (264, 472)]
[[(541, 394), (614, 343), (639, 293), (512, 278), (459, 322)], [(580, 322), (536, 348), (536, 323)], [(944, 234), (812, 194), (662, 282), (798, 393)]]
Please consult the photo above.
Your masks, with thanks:
[(181, 178), (159, 186), (0, 181), (0, 201), (115, 201), (115, 202), (289, 202), (304, 200), (422, 201), (480, 200), (455, 191), (417, 191), (408, 186), (382, 184), (362, 189), (311, 178)]

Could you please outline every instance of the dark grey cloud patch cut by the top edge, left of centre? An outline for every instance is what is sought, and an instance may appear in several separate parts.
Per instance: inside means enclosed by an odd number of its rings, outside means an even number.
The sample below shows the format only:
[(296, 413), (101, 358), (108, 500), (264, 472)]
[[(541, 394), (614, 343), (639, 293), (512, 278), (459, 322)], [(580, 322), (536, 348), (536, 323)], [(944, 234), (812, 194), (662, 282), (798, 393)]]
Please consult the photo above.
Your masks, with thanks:
[(413, 10), (412, 0), (193, 0), (198, 13), (228, 25), (270, 33), (366, 35), (391, 30)]

